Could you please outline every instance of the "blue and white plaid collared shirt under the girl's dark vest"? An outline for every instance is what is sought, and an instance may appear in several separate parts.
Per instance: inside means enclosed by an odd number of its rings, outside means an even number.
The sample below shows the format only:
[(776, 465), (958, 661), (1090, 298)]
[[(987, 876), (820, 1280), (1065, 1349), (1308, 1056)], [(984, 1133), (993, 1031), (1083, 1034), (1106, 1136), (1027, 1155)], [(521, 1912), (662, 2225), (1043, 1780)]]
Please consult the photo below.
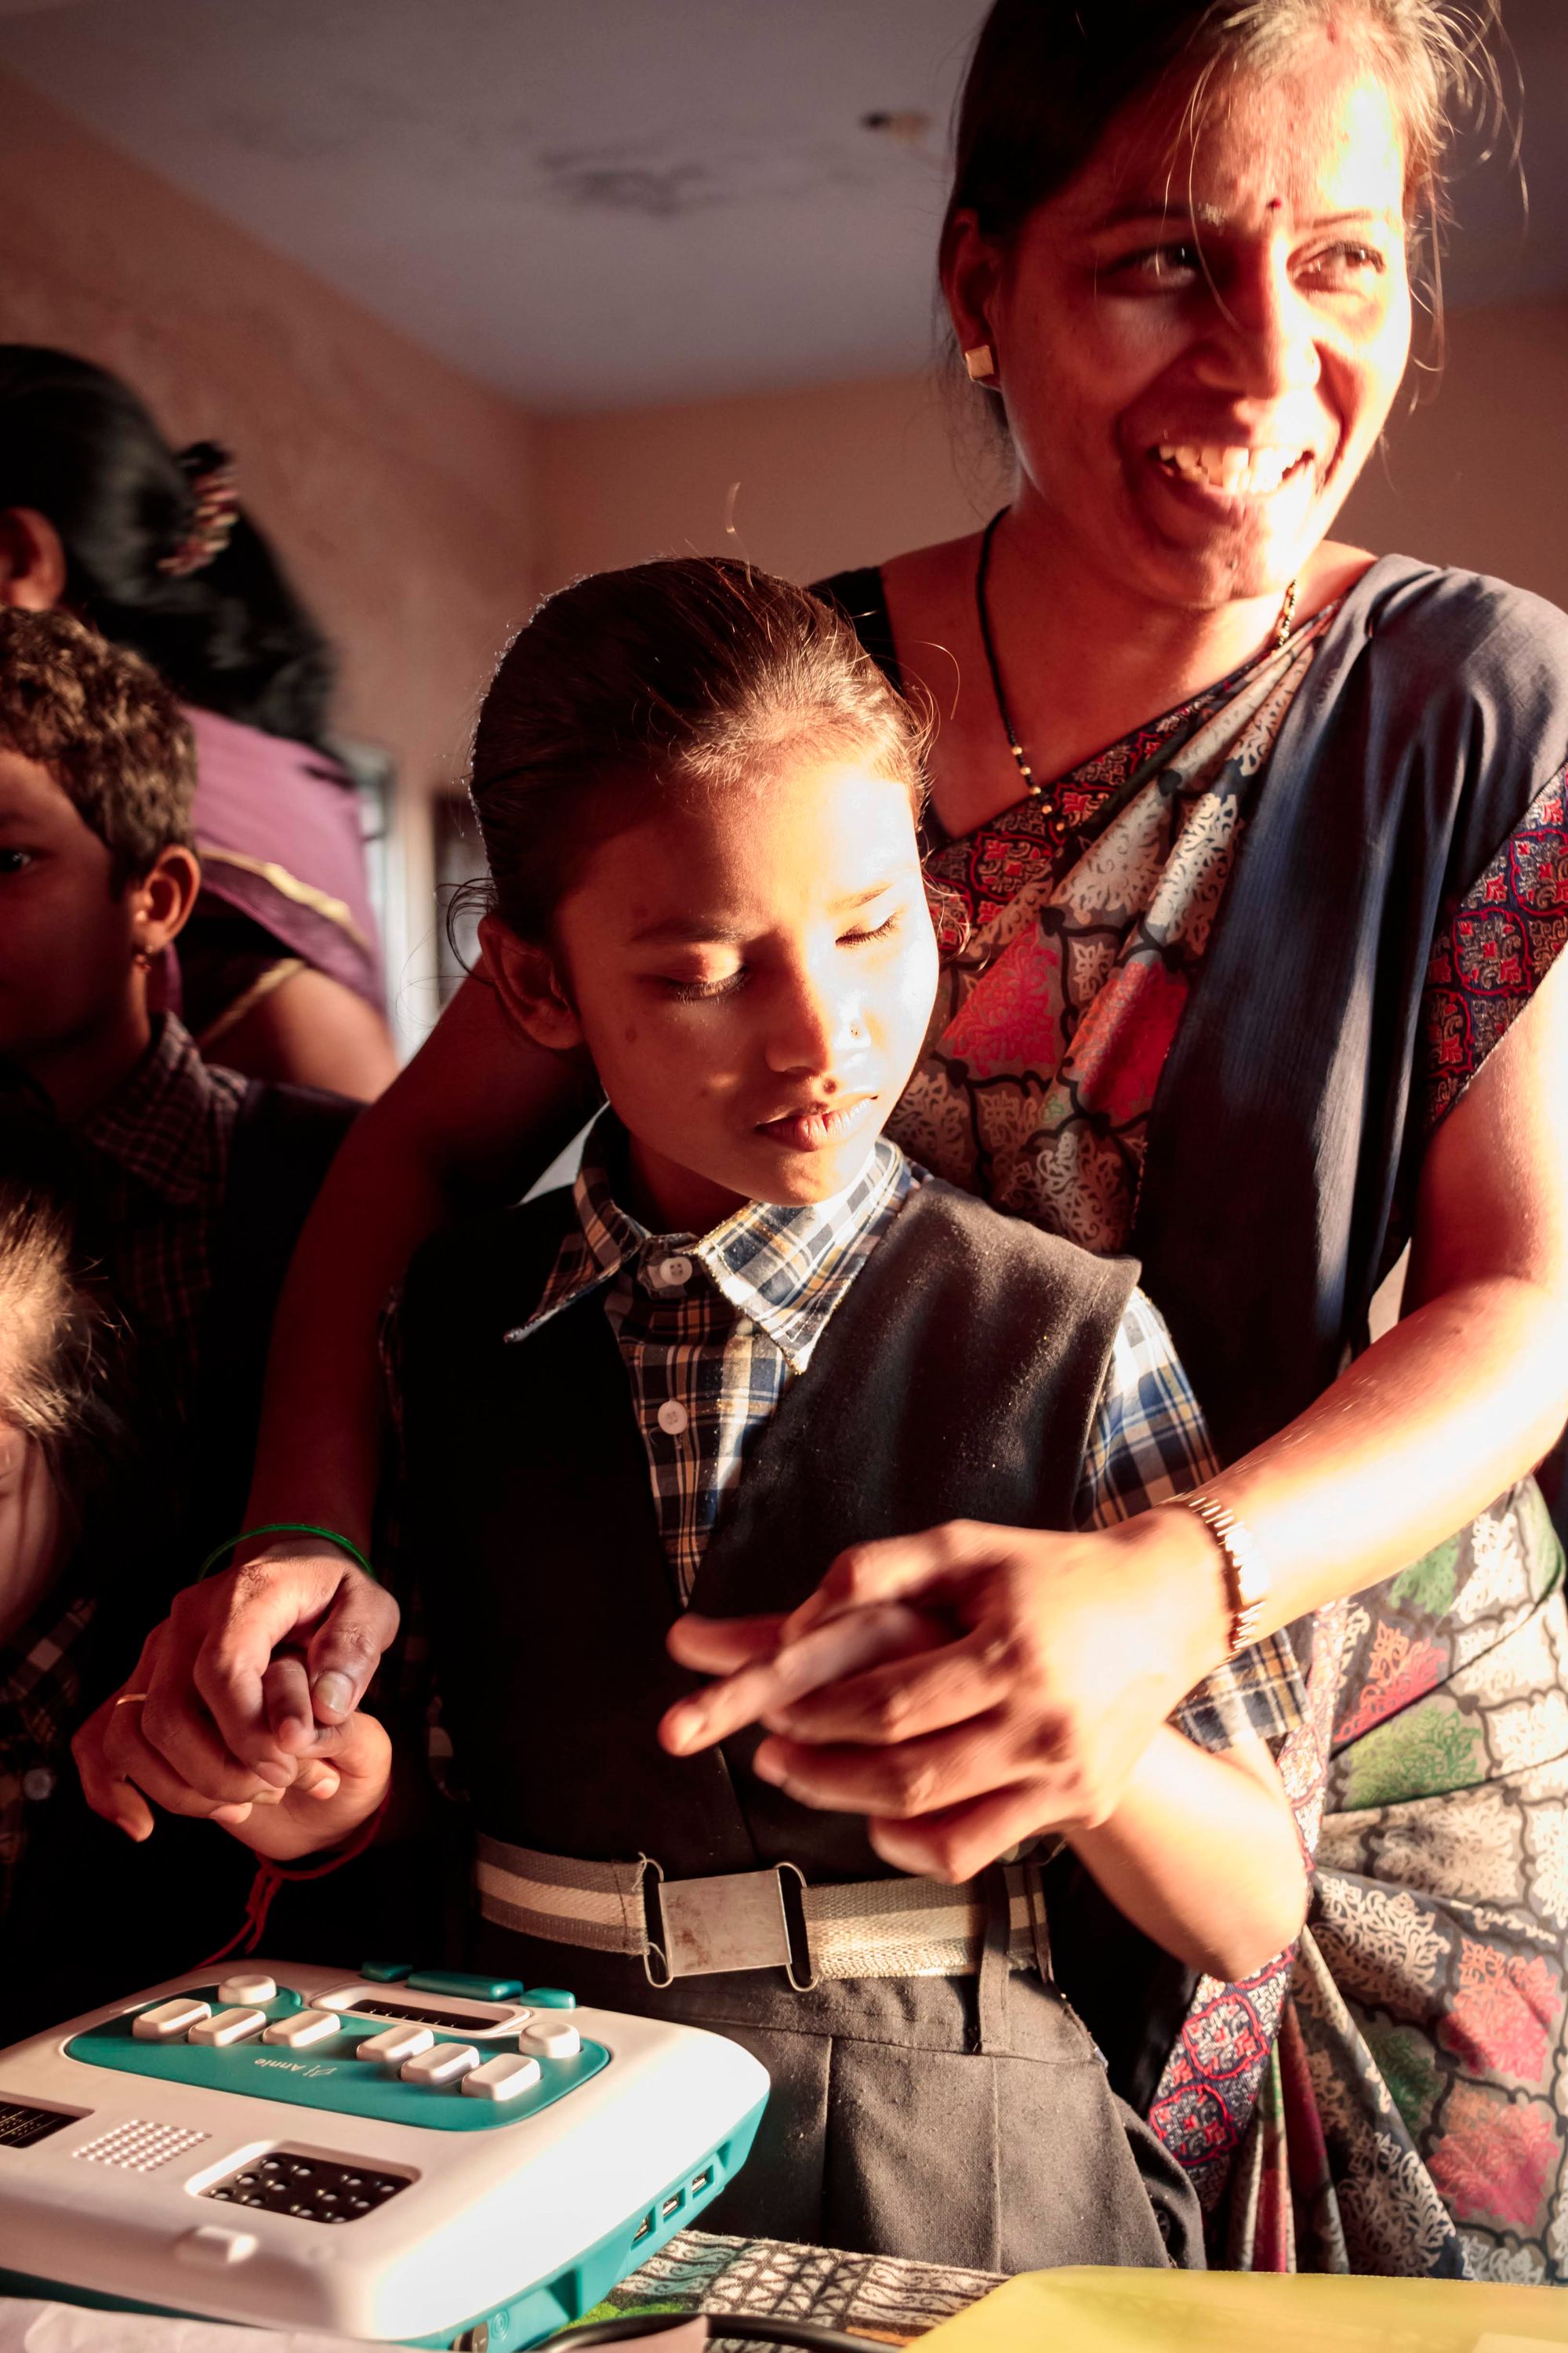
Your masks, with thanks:
[[(543, 1297), (505, 1334), (527, 1341), (590, 1292), (602, 1294), (625, 1362), (654, 1511), (682, 1602), (719, 1506), (745, 1471), (785, 1386), (811, 1362), (849, 1285), (929, 1172), (886, 1136), (856, 1181), (809, 1207), (748, 1202), (712, 1233), (649, 1233), (614, 1198), (625, 1132), (602, 1113), (576, 1176), (576, 1226)], [(1133, 1292), (1095, 1412), (1074, 1518), (1131, 1520), (1218, 1468), (1204, 1417), (1154, 1304)], [(1173, 1722), (1204, 1748), (1281, 1739), (1300, 1722), (1302, 1682), (1284, 1633), (1267, 1635), (1187, 1694)]]

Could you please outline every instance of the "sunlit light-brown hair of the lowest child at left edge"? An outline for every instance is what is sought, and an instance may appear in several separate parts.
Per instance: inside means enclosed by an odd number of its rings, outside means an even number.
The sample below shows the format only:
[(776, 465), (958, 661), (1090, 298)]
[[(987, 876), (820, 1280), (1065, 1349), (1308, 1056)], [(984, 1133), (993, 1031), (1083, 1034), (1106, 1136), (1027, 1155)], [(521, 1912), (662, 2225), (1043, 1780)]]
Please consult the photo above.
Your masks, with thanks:
[(0, 1419), (33, 1440), (68, 1527), (129, 1452), (127, 1339), (82, 1247), (89, 1179), (68, 1132), (0, 1071)]

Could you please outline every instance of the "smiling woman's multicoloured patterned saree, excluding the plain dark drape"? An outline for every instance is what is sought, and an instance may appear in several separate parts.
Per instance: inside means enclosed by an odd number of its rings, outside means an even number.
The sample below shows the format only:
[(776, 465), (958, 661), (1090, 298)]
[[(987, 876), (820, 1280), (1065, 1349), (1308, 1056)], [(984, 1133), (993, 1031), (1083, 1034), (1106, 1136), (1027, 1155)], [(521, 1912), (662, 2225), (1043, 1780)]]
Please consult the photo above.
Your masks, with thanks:
[[(856, 614), (867, 579), (827, 586)], [(1084, 762), (1051, 812), (933, 847), (943, 984), (893, 1120), (917, 1160), (1128, 1247), (1159, 1078), (1260, 798), (1291, 791), (1272, 755), (1335, 621)], [(1422, 932), (1418, 1146), (1568, 936), (1561, 774), (1521, 800)], [(1316, 1847), (1309, 1927), (1244, 1986), (1199, 1981), (1152, 2104), (1218, 2261), (1568, 2278), (1566, 1668), (1533, 1480), (1316, 1621), (1309, 1722), (1281, 1755)]]

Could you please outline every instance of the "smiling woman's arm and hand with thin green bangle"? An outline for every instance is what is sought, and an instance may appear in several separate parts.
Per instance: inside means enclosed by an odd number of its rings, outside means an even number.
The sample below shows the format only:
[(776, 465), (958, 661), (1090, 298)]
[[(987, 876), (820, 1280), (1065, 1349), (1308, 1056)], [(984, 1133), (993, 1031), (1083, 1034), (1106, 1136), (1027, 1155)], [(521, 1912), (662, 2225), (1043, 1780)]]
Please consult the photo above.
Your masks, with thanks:
[[(465, 981), (425, 1047), (348, 1134), (301, 1233), (273, 1327), (247, 1527), (306, 1520), (369, 1551), (381, 1468), (378, 1322), (428, 1233), (517, 1200), (597, 1101), (585, 1064), (517, 1038)], [(315, 1537), (242, 1546), (235, 1567), (179, 1595), (148, 1659), (141, 1722), (169, 1767), (214, 1800), (334, 1746), (397, 1631), (397, 1607)], [(268, 1725), (273, 1649), (306, 1649), (317, 1720)], [(219, 1741), (214, 1744), (214, 1725)], [(324, 1729), (322, 1729), (324, 1727)], [(244, 1769), (240, 1769), (244, 1767)]]

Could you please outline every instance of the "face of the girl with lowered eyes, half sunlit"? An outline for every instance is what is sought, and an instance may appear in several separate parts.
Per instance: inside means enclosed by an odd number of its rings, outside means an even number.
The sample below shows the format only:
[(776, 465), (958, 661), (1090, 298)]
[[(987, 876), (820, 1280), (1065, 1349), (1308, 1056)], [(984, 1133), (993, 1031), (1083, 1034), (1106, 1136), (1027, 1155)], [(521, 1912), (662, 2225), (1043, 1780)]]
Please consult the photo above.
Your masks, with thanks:
[(853, 1184), (914, 1068), (936, 939), (905, 784), (806, 755), (663, 795), (559, 904), (555, 958), (487, 925), (524, 1028), (585, 1045), (632, 1136), (644, 1221)]

